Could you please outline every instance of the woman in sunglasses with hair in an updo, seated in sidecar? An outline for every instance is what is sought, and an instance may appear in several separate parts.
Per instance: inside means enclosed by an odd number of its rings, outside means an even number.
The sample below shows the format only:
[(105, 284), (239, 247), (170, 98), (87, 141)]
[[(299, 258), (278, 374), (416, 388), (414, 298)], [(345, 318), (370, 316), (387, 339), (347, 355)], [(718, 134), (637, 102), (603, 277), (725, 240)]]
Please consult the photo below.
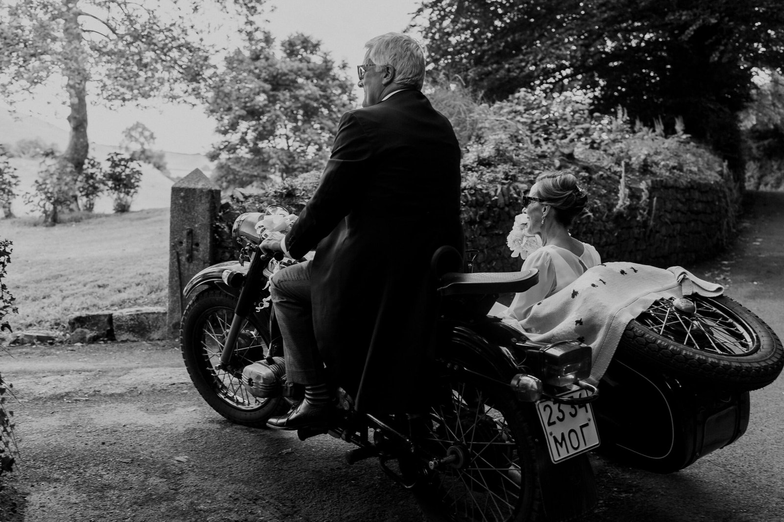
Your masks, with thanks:
[(522, 270), (539, 270), (539, 283), (516, 294), (506, 317), (523, 321), (532, 306), (553, 295), (601, 263), (596, 248), (569, 235), (568, 227), (585, 208), (588, 197), (568, 172), (545, 172), (536, 179), (523, 212), (528, 215), (528, 234), (539, 234), (542, 247), (532, 252)]

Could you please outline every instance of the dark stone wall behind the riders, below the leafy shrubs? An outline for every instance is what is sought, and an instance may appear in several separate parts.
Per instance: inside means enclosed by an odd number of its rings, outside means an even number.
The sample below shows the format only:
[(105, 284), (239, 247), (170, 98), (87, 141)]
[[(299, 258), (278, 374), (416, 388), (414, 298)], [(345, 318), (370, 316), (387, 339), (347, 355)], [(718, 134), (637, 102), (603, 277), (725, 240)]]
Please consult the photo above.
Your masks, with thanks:
[[(521, 260), (512, 258), (506, 247), (506, 235), (520, 212), (525, 189), (520, 183), (463, 188), (466, 248), (479, 251), (477, 270), (520, 269)], [(216, 261), (236, 259), (230, 230), (241, 212), (256, 212), (271, 202), (289, 205), (299, 212), (307, 201), (307, 194), (277, 196), (235, 191), (223, 200), (215, 227), (220, 239)], [(594, 245), (604, 261), (688, 267), (715, 256), (731, 241), (739, 194), (720, 179), (649, 179), (630, 187), (623, 205), (603, 213), (597, 212), (598, 208), (578, 219), (572, 234)]]

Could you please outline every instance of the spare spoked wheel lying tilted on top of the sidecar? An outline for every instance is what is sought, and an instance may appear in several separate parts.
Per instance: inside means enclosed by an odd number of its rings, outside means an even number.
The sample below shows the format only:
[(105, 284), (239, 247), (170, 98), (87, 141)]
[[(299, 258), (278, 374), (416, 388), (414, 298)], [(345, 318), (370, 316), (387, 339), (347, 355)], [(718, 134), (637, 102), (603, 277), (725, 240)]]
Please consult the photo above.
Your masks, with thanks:
[(768, 386), (779, 376), (784, 350), (768, 324), (725, 295), (688, 299), (693, 313), (670, 299), (653, 303), (626, 327), (616, 356), (739, 391)]

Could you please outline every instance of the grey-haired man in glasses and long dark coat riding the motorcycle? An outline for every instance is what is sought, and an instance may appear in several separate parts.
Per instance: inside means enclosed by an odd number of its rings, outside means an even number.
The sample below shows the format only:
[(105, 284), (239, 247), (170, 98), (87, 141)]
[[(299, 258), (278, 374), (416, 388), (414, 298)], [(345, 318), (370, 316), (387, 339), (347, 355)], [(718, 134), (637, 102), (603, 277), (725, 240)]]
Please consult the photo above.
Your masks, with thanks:
[(341, 386), (360, 411), (405, 411), (421, 399), (435, 322), (430, 258), (463, 252), (460, 150), (421, 92), (423, 47), (388, 33), (365, 44), (361, 109), (340, 119), (321, 183), (278, 242), (263, 248), (312, 262), (272, 278), (289, 382), (305, 399), (267, 425), (322, 424)]

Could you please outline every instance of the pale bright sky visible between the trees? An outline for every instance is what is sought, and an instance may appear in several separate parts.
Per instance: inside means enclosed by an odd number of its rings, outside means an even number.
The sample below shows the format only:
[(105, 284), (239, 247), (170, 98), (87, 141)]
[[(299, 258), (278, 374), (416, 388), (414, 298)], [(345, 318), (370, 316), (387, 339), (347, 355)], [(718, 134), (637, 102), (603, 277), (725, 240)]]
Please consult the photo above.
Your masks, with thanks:
[[(301, 32), (321, 40), (322, 49), (336, 61), (350, 66), (361, 63), (365, 42), (378, 34), (402, 31), (419, 6), (418, 0), (271, 0), (276, 7), (267, 14), (268, 26), (275, 38)], [(354, 67), (350, 67), (349, 72)], [(359, 92), (361, 89), (355, 89)], [(357, 103), (360, 103), (358, 98)], [(54, 96), (41, 93), (35, 100), (16, 104), (17, 111), (68, 129), (67, 105)], [(205, 154), (217, 141), (214, 121), (200, 108), (159, 103), (156, 108), (134, 107), (109, 110), (91, 106), (88, 111), (89, 140), (103, 145), (117, 145), (122, 131), (141, 121), (155, 136), (155, 147), (183, 154)]]

